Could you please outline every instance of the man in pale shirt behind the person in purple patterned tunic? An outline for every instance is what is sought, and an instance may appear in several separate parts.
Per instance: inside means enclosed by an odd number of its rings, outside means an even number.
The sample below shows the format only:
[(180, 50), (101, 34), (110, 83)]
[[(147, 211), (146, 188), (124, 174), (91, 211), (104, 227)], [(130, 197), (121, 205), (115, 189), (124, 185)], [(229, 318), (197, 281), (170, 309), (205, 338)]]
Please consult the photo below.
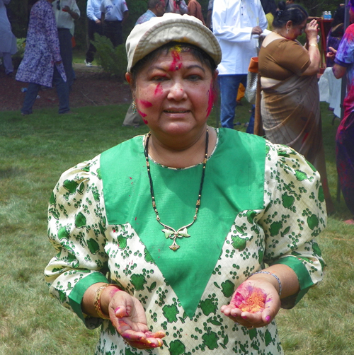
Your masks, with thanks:
[(72, 36), (74, 20), (80, 17), (80, 10), (75, 0), (57, 0), (52, 2), (57, 21), (60, 55), (67, 75), (69, 89), (74, 81), (72, 69)]

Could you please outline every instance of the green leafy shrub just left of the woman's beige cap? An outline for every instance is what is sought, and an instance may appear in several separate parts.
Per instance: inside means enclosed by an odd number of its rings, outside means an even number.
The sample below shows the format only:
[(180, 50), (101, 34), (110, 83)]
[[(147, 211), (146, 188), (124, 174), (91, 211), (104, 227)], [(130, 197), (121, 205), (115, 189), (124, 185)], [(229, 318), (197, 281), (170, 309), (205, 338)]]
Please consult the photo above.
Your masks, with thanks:
[(96, 62), (107, 73), (124, 79), (127, 71), (127, 54), (125, 45), (113, 47), (112, 42), (105, 37), (95, 33), (95, 40), (92, 41), (96, 47)]

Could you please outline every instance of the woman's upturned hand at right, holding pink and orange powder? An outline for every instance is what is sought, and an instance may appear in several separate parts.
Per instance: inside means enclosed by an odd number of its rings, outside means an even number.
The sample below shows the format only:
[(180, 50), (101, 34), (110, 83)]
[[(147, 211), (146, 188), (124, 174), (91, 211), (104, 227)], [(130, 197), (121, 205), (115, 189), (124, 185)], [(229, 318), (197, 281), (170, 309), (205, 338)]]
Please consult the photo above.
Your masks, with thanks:
[[(263, 298), (264, 305), (256, 313), (246, 312), (239, 307), (251, 295), (256, 294), (258, 300)], [(251, 300), (250, 300), (251, 301)], [(241, 307), (242, 308), (242, 307)], [(257, 309), (256, 307), (254, 308)], [(273, 284), (266, 280), (248, 279), (244, 281), (232, 295), (228, 305), (222, 305), (222, 313), (244, 327), (264, 327), (268, 325), (280, 310), (280, 297)]]

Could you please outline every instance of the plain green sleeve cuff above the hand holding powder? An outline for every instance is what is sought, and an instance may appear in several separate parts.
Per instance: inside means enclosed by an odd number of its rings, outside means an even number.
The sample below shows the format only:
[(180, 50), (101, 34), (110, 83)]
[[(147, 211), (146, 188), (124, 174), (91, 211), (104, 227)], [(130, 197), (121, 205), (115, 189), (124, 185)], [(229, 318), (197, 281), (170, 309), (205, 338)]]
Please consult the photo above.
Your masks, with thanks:
[[(314, 283), (309, 275), (307, 267), (302, 264), (302, 262), (297, 257), (282, 257), (277, 260), (274, 264), (284, 264), (294, 270), (297, 275), (297, 279), (299, 280), (300, 291), (290, 296), (289, 299), (282, 298), (282, 308), (290, 309), (294, 307), (302, 297), (304, 297), (309, 291), (309, 288), (314, 286)], [(273, 265), (274, 265), (273, 264)]]

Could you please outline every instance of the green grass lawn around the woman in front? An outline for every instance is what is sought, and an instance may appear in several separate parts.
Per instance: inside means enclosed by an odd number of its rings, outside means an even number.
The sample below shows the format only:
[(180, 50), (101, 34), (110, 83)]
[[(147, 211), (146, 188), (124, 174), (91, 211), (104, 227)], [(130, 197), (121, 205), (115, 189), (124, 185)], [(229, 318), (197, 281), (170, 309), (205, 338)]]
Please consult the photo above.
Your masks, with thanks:
[[(237, 107), (237, 129), (246, 130), (250, 105)], [(47, 202), (59, 175), (76, 163), (147, 132), (122, 127), (128, 105), (81, 107), (0, 115), (0, 355), (93, 354), (97, 330), (48, 295), (43, 270), (54, 255), (47, 242)], [(354, 354), (354, 226), (336, 202), (334, 137), (338, 121), (321, 103), (324, 144), (336, 213), (319, 235), (327, 263), (324, 282), (293, 310), (277, 316), (286, 355)], [(216, 126), (215, 112), (210, 125)]]

